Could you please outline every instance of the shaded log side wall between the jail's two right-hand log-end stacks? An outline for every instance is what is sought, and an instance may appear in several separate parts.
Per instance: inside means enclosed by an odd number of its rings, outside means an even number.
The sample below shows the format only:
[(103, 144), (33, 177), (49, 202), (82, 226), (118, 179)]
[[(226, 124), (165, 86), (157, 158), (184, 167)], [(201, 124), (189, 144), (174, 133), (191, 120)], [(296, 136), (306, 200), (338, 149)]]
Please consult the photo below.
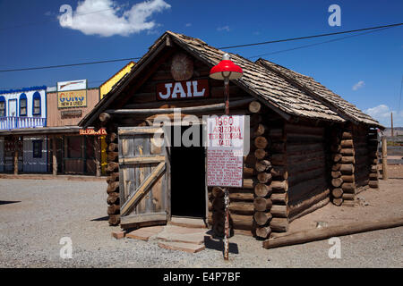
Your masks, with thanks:
[(328, 151), (322, 126), (287, 123), (285, 132), (292, 222), (329, 203)]

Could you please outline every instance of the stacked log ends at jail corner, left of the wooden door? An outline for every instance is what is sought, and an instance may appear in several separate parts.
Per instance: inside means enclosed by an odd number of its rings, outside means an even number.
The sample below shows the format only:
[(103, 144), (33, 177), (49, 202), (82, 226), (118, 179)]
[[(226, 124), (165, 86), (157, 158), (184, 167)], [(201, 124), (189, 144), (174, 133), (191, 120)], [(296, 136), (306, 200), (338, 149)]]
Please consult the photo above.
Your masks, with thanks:
[(119, 156), (117, 134), (113, 130), (107, 130), (107, 214), (109, 225), (120, 223), (120, 198), (119, 198)]

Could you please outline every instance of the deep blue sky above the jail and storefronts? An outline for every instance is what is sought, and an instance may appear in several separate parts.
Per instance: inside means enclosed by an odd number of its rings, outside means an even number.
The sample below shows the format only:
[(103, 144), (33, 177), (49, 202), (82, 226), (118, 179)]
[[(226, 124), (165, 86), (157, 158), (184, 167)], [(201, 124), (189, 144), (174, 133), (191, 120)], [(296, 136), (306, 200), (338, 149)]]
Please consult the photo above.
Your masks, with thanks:
[[(63, 28), (57, 19), (63, 4), (73, 8), (73, 29)], [(328, 24), (330, 4), (341, 8), (340, 27)], [(167, 29), (211, 46), (231, 46), (402, 21), (402, 1), (0, 0), (0, 70), (137, 57)], [(403, 26), (265, 55), (345, 36), (228, 51), (253, 61), (254, 55), (263, 55), (310, 75), (386, 126), (393, 111), (394, 125), (403, 126)], [(0, 89), (79, 79), (95, 87), (124, 64), (0, 72)]]

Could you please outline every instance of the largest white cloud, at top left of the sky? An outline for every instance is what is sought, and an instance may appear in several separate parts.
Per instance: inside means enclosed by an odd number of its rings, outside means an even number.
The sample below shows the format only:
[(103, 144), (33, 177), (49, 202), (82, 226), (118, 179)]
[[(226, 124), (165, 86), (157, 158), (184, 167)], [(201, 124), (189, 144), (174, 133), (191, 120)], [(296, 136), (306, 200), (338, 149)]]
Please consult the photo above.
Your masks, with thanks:
[(63, 13), (58, 19), (63, 28), (77, 29), (85, 35), (129, 36), (158, 27), (159, 24), (151, 21), (150, 17), (171, 5), (164, 0), (150, 0), (126, 7), (126, 4), (119, 5), (112, 0), (84, 0), (73, 11), (70, 24), (65, 24)]

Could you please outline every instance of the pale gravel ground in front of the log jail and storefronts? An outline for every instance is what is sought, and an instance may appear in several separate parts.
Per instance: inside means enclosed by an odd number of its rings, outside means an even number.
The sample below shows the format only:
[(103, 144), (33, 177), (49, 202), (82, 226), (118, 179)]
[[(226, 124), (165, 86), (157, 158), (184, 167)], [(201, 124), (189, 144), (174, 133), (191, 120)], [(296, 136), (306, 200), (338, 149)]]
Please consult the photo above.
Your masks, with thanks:
[[(403, 227), (341, 237), (340, 259), (328, 257), (328, 240), (264, 249), (236, 235), (228, 262), (214, 246), (188, 254), (115, 240), (105, 189), (103, 181), (0, 180), (0, 267), (403, 267)], [(59, 256), (62, 237), (73, 241), (71, 259)]]

